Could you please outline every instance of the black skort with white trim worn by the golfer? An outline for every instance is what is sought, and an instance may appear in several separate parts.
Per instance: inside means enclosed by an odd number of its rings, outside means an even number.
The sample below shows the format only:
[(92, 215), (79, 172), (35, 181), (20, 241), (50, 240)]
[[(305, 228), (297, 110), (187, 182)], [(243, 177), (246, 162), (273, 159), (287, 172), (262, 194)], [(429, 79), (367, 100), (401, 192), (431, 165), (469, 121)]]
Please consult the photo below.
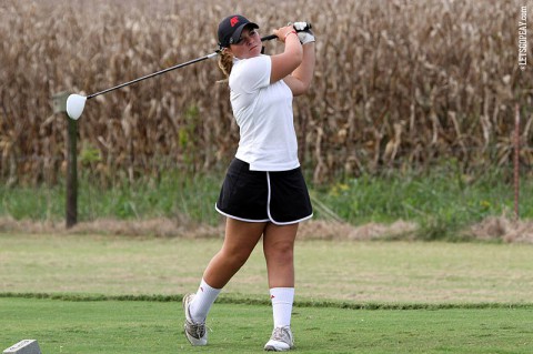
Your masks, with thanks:
[(294, 224), (313, 216), (308, 186), (300, 168), (290, 171), (250, 171), (234, 159), (228, 169), (215, 209), (248, 222)]

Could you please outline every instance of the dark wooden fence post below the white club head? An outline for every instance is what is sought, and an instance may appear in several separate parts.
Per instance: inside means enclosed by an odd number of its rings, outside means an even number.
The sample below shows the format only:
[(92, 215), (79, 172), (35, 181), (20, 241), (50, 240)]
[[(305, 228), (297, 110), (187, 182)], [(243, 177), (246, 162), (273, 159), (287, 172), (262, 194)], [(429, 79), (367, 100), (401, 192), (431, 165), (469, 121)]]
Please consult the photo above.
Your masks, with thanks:
[(53, 95), (53, 112), (62, 113), (67, 119), (67, 229), (78, 222), (78, 121), (67, 114), (67, 98), (69, 92), (59, 92)]

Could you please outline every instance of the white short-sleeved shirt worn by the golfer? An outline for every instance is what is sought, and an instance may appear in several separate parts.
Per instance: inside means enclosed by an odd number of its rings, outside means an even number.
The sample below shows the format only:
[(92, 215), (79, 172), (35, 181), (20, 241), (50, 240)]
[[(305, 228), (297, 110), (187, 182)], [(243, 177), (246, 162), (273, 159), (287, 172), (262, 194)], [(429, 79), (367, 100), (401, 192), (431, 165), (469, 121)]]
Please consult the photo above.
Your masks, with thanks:
[(235, 60), (230, 74), (230, 100), (240, 128), (235, 158), (253, 171), (288, 171), (300, 166), (292, 114), (292, 91), (270, 84), (268, 55)]

